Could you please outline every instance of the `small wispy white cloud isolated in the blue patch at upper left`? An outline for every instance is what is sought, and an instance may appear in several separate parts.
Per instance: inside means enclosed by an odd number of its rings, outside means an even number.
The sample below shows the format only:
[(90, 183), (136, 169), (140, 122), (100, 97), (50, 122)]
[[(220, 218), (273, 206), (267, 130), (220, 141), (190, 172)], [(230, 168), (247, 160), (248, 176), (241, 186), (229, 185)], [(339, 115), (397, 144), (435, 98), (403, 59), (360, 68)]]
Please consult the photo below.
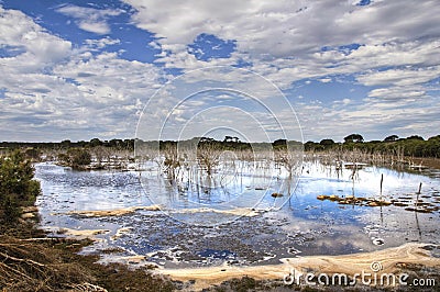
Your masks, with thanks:
[(96, 34), (110, 33), (111, 29), (108, 19), (123, 12), (122, 10), (95, 9), (74, 4), (62, 5), (56, 11), (74, 18), (79, 29)]

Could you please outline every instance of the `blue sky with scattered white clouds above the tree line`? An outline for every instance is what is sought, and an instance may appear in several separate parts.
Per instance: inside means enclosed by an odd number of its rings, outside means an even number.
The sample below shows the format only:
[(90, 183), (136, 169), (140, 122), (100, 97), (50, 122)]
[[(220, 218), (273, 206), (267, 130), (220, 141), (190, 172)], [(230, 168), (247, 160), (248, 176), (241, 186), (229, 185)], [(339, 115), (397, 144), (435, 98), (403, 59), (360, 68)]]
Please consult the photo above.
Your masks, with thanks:
[[(439, 15), (437, 0), (2, 0), (0, 141), (134, 137), (156, 90), (212, 66), (278, 87), (305, 141), (427, 138), (440, 134)], [(235, 116), (264, 115), (229, 93), (172, 108), (183, 123), (228, 99)], [(226, 109), (207, 116), (232, 127)]]

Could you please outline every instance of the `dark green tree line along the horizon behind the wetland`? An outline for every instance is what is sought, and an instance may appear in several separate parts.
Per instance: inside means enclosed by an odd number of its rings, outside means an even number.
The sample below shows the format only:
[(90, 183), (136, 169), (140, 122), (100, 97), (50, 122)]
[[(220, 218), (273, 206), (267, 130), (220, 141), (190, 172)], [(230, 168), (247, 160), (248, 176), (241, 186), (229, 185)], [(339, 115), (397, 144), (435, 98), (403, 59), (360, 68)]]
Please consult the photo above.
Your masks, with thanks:
[[(343, 138), (343, 142), (334, 142), (331, 138), (324, 138), (320, 142), (308, 141), (301, 142), (287, 142), (286, 139), (277, 139), (272, 143), (246, 143), (241, 142), (238, 137), (226, 136), (223, 141), (217, 141), (210, 137), (195, 137), (189, 141), (179, 142), (182, 145), (191, 144), (197, 142), (199, 145), (210, 145), (217, 149), (223, 150), (255, 150), (255, 149), (267, 149), (273, 147), (274, 149), (282, 149), (286, 145), (301, 146), (306, 151), (326, 151), (326, 150), (362, 150), (370, 154), (385, 154), (385, 155), (403, 155), (414, 157), (436, 157), (440, 158), (440, 135), (432, 136), (425, 139), (421, 136), (413, 135), (409, 137), (398, 137), (397, 135), (389, 135), (383, 141), (370, 141), (365, 142), (361, 134), (350, 134)], [(30, 157), (37, 157), (41, 151), (45, 149), (59, 149), (68, 150), (72, 148), (78, 149), (92, 149), (96, 147), (118, 149), (118, 150), (134, 150), (134, 145), (148, 144), (151, 142), (142, 142), (135, 139), (110, 139), (101, 141), (99, 138), (92, 138), (88, 142), (70, 142), (68, 139), (55, 143), (20, 143), (20, 142), (2, 142), (0, 143), (0, 149), (15, 149), (26, 148), (25, 154)], [(155, 142), (157, 143), (157, 142)], [(168, 148), (169, 146), (177, 145), (175, 141), (161, 141), (158, 143), (160, 148)], [(75, 161), (82, 164), (82, 161), (89, 160), (89, 156), (85, 151), (70, 150), (66, 153), (67, 156), (63, 158), (66, 161)], [(70, 159), (70, 160), (69, 160)]]

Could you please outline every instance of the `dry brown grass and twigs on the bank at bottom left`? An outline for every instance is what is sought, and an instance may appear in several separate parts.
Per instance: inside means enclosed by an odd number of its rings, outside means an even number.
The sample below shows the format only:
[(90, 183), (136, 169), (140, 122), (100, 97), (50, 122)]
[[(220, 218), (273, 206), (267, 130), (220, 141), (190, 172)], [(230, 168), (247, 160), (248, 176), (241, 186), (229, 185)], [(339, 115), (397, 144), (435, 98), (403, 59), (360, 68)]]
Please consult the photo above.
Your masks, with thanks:
[[(24, 233), (20, 227), (15, 232)], [(0, 291), (173, 291), (176, 288), (168, 278), (153, 276), (147, 268), (103, 266), (96, 263), (97, 256), (77, 255), (90, 244), (87, 239), (21, 237), (0, 235)]]

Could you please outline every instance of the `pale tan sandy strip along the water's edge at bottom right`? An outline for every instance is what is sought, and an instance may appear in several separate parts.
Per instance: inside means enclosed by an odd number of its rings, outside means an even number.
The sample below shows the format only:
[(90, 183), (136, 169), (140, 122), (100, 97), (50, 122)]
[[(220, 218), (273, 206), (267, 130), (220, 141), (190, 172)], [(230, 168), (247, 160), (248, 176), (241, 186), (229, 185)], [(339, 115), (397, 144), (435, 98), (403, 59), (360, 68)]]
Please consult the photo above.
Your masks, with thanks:
[(397, 273), (398, 265), (419, 263), (426, 267), (438, 267), (440, 269), (440, 258), (430, 256), (430, 252), (422, 247), (425, 244), (405, 244), (399, 247), (388, 248), (373, 252), (362, 252), (344, 256), (310, 256), (298, 258), (284, 258), (282, 263), (256, 266), (256, 267), (234, 267), (221, 266), (209, 268), (190, 269), (162, 269), (161, 273), (169, 276), (174, 280), (189, 281), (196, 280), (193, 289), (201, 290), (212, 284), (223, 281), (249, 276), (256, 280), (283, 280), (286, 274), (295, 270), (298, 274), (315, 271), (316, 273), (345, 273), (353, 277), (355, 273), (373, 272), (372, 263), (378, 263), (381, 273)]

